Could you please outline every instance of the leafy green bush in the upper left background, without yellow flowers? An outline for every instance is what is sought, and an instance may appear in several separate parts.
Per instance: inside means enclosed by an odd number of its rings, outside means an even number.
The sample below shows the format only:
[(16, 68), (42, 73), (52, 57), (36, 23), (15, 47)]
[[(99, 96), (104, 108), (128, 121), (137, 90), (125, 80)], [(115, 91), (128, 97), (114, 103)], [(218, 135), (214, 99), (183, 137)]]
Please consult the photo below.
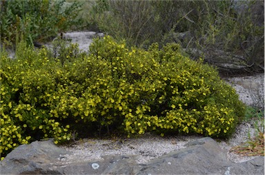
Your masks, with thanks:
[(80, 26), (81, 3), (65, 0), (3, 0), (1, 1), (1, 43), (12, 45), (23, 35), (27, 43), (47, 41)]

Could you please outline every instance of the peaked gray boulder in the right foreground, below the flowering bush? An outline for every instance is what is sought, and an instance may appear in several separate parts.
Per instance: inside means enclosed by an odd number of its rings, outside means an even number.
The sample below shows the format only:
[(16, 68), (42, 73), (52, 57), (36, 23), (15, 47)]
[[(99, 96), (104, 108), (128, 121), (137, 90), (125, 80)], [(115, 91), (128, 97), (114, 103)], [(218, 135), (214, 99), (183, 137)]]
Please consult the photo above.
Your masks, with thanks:
[(150, 161), (139, 174), (224, 174), (226, 153), (209, 137), (186, 144), (185, 149)]

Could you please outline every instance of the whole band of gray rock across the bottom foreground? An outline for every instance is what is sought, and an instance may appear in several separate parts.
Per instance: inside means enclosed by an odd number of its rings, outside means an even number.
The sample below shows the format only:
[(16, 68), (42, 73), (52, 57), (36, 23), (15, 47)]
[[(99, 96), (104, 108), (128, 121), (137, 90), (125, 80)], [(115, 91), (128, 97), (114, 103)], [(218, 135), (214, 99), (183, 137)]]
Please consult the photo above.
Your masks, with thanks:
[(66, 154), (52, 140), (20, 145), (1, 161), (1, 174), (264, 174), (264, 156), (233, 163), (209, 137), (186, 148), (139, 164), (137, 155), (103, 156), (100, 160), (66, 163)]

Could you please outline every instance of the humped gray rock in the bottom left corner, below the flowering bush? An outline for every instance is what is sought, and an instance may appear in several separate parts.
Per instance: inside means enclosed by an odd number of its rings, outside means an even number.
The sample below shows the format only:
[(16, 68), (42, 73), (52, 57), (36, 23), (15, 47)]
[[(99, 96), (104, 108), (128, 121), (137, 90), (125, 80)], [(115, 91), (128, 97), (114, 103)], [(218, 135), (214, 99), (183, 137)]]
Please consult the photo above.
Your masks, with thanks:
[(59, 174), (56, 169), (50, 168), (50, 163), (63, 154), (66, 151), (52, 140), (20, 145), (1, 161), (1, 174)]

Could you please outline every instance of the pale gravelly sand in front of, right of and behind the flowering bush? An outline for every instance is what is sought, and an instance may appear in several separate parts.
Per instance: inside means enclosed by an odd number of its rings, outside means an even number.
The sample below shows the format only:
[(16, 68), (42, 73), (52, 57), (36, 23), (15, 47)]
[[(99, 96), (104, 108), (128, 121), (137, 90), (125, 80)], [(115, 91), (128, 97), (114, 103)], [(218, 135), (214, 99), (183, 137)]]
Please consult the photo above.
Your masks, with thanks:
[[(64, 36), (67, 39), (72, 39), (72, 42), (78, 43), (79, 48), (86, 51), (91, 39), (97, 34), (95, 32), (69, 32)], [(239, 99), (247, 105), (264, 106), (264, 74), (235, 77), (226, 79), (226, 81), (233, 85), (239, 94)], [(255, 156), (239, 156), (229, 151), (232, 147), (245, 143), (249, 137), (253, 138), (257, 134), (255, 123), (256, 121), (244, 122), (238, 125), (232, 138), (227, 141), (218, 141), (220, 147), (226, 150), (230, 161), (240, 163), (255, 158)], [(202, 138), (202, 136), (160, 137), (145, 134), (139, 138), (127, 138), (122, 141), (119, 139), (84, 139), (77, 141), (75, 145), (63, 147), (73, 152), (71, 155), (66, 155), (66, 162), (102, 159), (106, 155), (132, 154), (137, 156), (138, 163), (146, 163), (150, 159), (181, 150), (186, 143), (198, 138)]]

